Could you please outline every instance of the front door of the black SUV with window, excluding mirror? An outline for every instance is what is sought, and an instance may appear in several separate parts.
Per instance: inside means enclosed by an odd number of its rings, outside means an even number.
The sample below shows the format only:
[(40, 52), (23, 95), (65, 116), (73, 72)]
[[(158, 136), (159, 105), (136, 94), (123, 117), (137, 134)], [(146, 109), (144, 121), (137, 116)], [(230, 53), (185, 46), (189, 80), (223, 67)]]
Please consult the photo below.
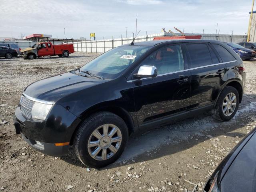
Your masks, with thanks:
[(180, 45), (159, 48), (147, 56), (142, 65), (155, 66), (158, 75), (134, 81), (134, 102), (139, 125), (188, 109), (190, 72), (184, 70)]

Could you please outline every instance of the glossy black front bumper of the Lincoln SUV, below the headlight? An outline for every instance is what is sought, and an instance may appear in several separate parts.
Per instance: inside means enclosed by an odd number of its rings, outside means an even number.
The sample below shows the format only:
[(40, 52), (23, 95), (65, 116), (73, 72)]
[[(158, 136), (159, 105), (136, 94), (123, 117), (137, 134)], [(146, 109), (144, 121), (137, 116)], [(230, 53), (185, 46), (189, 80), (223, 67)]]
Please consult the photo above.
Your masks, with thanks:
[(68, 146), (55, 146), (55, 143), (70, 142), (81, 121), (60, 105), (54, 105), (45, 121), (26, 119), (18, 106), (13, 120), (16, 134), (22, 133), (30, 146), (51, 156), (68, 153)]

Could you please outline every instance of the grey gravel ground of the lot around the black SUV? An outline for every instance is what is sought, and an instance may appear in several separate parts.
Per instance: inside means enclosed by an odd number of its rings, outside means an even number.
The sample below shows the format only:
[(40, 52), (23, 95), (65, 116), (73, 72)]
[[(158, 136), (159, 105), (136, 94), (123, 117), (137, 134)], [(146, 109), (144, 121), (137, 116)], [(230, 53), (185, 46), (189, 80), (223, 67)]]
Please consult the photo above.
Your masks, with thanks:
[[(246, 61), (246, 89), (230, 122), (209, 114), (132, 135), (122, 156), (103, 169), (88, 169), (70, 154), (61, 158), (32, 149), (12, 122), (30, 83), (84, 65), (94, 53), (69, 58), (0, 59), (0, 187), (2, 191), (181, 192), (202, 191), (228, 152), (256, 126), (256, 60)], [(5, 124), (3, 124), (6, 121)], [(187, 180), (187, 181), (186, 181)]]

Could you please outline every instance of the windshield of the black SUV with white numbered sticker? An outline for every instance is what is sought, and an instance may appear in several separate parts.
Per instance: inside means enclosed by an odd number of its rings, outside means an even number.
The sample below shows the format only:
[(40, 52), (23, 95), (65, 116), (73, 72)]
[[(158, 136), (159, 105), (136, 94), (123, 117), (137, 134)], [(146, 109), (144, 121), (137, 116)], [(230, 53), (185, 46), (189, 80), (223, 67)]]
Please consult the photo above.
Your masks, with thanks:
[(80, 68), (104, 79), (114, 79), (152, 46), (116, 47)]

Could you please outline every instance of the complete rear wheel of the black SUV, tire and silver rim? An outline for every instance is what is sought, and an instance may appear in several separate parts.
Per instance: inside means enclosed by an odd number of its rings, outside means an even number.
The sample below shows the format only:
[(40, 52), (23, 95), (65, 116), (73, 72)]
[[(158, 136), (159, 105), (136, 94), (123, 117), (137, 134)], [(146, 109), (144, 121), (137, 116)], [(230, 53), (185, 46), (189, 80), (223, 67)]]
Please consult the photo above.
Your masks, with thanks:
[(235, 116), (238, 106), (238, 91), (234, 87), (226, 86), (212, 109), (212, 117), (220, 121), (229, 121)]

